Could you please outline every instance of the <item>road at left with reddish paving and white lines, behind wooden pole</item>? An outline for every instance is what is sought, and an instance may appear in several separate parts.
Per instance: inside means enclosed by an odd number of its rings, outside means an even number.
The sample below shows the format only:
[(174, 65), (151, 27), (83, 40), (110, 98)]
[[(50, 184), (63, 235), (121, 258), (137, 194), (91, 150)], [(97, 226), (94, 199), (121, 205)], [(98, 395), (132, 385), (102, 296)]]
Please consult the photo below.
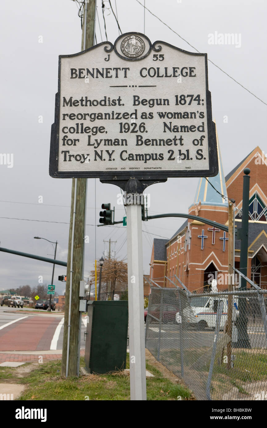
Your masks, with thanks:
[[(57, 312), (21, 313), (19, 308), (0, 306), (1, 351), (49, 351), (63, 347), (63, 315)], [(85, 347), (85, 318), (81, 324), (81, 348)]]

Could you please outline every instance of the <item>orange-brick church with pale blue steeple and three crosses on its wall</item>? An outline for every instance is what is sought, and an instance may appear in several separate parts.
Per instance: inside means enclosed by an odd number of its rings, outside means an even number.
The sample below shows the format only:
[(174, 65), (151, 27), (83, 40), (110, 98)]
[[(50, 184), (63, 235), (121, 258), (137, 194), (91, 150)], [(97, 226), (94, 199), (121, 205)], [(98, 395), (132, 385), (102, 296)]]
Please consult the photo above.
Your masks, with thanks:
[[(216, 190), (233, 198), (242, 210), (243, 171), (250, 169), (249, 189), (249, 249), (247, 275), (267, 288), (267, 158), (256, 147), (224, 176), (219, 152), (219, 173), (215, 177), (200, 178), (195, 200), (188, 213), (228, 225), (228, 200)], [(241, 227), (242, 211), (235, 211), (236, 229)], [(235, 238), (235, 267), (240, 265), (240, 240)], [(198, 220), (186, 219), (169, 239), (154, 239), (150, 262), (150, 279), (162, 287), (178, 285), (177, 275), (190, 291), (207, 291), (210, 273), (218, 278), (218, 289), (227, 289), (223, 277), (228, 272), (228, 233)], [(219, 274), (223, 275), (219, 275)], [(221, 278), (221, 279), (220, 279)], [(249, 284), (247, 284), (249, 288)]]

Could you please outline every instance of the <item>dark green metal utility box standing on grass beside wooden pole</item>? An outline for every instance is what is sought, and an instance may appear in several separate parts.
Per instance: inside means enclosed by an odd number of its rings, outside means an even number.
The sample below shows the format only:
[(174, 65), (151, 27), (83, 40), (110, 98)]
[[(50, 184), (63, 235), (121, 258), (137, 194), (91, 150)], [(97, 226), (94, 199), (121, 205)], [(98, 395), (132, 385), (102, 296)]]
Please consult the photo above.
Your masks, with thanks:
[(88, 302), (85, 367), (90, 373), (126, 368), (128, 300)]

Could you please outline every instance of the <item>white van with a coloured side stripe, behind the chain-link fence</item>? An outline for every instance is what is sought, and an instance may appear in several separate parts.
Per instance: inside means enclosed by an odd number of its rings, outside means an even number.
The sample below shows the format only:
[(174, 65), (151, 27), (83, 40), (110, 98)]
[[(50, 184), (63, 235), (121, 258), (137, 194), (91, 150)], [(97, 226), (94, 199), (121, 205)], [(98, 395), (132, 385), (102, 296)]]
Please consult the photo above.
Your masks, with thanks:
[[(190, 307), (183, 309), (183, 316), (186, 322), (194, 324), (203, 329), (204, 327), (214, 328), (219, 300), (223, 300), (223, 310), (220, 321), (220, 329), (224, 328), (227, 319), (228, 297), (207, 297), (194, 296), (189, 298)], [(236, 321), (239, 315), (237, 303), (238, 297), (233, 299), (232, 321)]]

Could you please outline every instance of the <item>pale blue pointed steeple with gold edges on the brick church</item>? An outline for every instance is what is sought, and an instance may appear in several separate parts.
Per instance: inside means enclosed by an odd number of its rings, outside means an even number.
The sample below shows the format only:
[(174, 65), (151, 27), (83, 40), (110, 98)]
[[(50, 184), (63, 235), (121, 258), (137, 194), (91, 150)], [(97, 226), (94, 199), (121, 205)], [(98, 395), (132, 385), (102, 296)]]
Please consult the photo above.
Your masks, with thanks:
[(219, 148), (219, 140), (216, 128), (216, 141), (217, 141), (217, 152), (218, 152), (218, 163), (219, 172), (215, 177), (201, 177), (198, 182), (197, 191), (195, 194), (195, 203), (198, 204), (201, 201), (201, 205), (227, 205), (227, 201), (217, 193), (211, 183), (222, 195), (227, 196), (227, 190), (225, 185), (225, 177), (222, 169), (222, 158)]

